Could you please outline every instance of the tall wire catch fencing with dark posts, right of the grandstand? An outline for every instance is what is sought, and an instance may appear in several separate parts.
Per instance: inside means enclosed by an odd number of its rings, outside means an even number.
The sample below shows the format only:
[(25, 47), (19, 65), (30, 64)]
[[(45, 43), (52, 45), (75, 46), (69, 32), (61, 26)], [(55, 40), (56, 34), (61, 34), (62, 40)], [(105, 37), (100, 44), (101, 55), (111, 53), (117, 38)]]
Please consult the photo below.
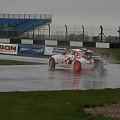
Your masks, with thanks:
[(120, 28), (111, 26), (43, 26), (29, 33), (24, 33), (21, 38), (61, 41), (93, 41), (120, 43)]

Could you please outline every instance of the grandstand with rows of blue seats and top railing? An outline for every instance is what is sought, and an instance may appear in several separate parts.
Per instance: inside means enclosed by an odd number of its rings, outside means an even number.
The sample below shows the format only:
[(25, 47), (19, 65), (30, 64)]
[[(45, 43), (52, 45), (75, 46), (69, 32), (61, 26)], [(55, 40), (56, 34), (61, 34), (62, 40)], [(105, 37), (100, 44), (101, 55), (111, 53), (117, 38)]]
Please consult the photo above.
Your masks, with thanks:
[(19, 38), (51, 22), (51, 14), (0, 14), (0, 37)]

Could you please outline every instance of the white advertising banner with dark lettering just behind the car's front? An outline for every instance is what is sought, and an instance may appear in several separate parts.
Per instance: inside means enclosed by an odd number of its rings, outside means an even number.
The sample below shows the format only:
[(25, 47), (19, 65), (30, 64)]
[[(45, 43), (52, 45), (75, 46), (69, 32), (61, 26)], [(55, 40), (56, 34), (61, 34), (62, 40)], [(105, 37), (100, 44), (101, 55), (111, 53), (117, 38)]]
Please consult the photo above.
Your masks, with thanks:
[(45, 47), (44, 55), (56, 55), (66, 52), (66, 48)]

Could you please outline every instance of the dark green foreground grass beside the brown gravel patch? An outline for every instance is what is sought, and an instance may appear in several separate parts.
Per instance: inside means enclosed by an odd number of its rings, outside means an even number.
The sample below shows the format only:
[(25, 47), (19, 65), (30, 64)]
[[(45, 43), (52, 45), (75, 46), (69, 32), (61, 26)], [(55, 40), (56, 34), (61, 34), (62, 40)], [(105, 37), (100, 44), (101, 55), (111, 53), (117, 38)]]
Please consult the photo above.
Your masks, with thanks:
[(117, 120), (84, 107), (120, 102), (120, 89), (0, 93), (0, 120)]

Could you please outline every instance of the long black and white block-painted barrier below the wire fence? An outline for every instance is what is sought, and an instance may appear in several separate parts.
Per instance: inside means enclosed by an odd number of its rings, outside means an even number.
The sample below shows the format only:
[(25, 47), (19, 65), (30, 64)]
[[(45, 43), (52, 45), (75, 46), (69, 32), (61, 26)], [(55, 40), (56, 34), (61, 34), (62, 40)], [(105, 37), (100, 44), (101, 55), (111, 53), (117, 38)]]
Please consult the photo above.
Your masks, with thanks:
[(100, 43), (100, 42), (79, 42), (79, 41), (55, 41), (55, 40), (32, 40), (32, 39), (4, 39), (0, 38), (0, 43), (11, 44), (38, 44), (54, 46), (80, 46), (96, 48), (120, 48), (120, 43)]

